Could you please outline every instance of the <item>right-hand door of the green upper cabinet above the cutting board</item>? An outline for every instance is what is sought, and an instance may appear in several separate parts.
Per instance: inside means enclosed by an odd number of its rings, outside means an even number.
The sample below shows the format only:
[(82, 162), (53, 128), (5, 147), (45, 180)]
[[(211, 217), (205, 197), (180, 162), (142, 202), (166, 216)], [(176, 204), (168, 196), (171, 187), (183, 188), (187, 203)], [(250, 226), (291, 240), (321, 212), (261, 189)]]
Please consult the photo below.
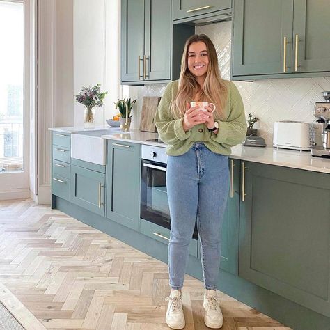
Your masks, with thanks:
[(171, 79), (171, 0), (145, 0), (146, 80)]

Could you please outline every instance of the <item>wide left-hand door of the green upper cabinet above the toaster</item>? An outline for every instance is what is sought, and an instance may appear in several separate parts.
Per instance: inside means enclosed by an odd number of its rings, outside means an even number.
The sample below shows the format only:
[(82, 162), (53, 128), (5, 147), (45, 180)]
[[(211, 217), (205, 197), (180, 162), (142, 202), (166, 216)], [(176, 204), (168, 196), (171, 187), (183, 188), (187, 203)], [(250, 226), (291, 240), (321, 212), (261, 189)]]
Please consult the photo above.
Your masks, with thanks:
[(292, 15), (293, 0), (234, 1), (233, 76), (291, 72)]

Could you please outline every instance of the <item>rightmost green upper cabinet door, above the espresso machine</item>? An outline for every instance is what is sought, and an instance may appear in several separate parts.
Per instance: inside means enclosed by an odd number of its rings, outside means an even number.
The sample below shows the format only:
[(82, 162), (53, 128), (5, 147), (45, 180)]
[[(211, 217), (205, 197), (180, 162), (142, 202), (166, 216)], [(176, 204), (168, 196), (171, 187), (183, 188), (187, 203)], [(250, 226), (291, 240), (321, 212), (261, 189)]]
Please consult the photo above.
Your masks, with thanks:
[(329, 0), (294, 1), (294, 72), (329, 72), (329, 17)]

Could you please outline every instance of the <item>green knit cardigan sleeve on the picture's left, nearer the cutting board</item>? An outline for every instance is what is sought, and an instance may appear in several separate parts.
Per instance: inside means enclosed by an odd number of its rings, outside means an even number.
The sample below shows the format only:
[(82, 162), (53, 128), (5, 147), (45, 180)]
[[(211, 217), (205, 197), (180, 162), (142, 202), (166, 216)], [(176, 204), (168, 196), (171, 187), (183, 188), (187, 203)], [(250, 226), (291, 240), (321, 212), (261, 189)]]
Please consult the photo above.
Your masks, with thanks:
[(155, 116), (155, 125), (160, 139), (172, 146), (180, 141), (189, 139), (189, 136), (191, 136), (190, 130), (184, 132), (184, 118), (174, 119), (171, 114), (171, 100), (175, 97), (174, 92), (176, 93), (175, 89), (177, 89), (175, 84), (177, 85), (178, 81), (173, 81), (166, 86)]

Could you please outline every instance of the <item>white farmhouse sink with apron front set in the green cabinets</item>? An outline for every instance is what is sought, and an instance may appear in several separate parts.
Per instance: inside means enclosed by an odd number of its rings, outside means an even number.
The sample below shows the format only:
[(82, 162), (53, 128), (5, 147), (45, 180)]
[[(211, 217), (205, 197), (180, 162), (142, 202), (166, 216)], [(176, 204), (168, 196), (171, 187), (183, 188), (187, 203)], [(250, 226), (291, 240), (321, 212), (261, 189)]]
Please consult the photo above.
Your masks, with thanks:
[(105, 165), (106, 141), (101, 137), (105, 134), (109, 134), (109, 129), (72, 133), (71, 157), (85, 162)]

